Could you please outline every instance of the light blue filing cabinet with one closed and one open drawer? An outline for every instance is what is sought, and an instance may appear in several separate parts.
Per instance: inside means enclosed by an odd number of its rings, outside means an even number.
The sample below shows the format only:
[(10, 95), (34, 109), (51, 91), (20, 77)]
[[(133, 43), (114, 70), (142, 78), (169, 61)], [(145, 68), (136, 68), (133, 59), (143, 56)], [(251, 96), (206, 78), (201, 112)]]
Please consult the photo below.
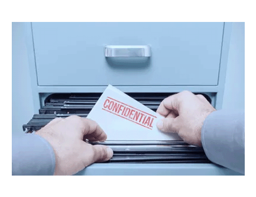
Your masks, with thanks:
[[(109, 84), (140, 95), (203, 93), (220, 109), (230, 32), (231, 22), (27, 22), (35, 114), (51, 95)], [(213, 163), (95, 163), (77, 175), (239, 174)]]

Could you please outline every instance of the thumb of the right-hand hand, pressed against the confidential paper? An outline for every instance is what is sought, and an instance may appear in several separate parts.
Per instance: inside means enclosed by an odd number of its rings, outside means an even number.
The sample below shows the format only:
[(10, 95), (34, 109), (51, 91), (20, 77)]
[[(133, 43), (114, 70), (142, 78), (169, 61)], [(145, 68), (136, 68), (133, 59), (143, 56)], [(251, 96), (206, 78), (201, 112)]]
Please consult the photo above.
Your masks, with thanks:
[(166, 132), (166, 133), (178, 133), (178, 125), (177, 125), (177, 117), (173, 118), (173, 117), (167, 117), (167, 118), (163, 118), (160, 119), (157, 122), (157, 128), (162, 131), (162, 132)]

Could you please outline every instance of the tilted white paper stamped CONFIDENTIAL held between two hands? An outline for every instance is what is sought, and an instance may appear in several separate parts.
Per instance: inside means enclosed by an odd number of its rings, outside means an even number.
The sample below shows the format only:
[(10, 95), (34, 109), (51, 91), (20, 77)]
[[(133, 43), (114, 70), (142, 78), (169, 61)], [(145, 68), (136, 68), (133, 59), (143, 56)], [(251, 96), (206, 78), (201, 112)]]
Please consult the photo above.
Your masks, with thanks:
[(182, 140), (156, 127), (163, 116), (109, 85), (87, 116), (95, 120), (107, 140)]

